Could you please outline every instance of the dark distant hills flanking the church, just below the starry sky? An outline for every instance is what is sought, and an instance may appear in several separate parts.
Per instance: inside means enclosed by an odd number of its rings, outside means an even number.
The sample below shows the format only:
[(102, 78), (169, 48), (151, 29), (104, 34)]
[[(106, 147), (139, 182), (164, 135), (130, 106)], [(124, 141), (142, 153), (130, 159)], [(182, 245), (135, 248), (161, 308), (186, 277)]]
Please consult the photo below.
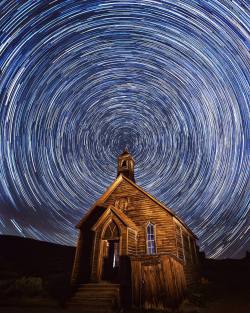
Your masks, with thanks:
[[(70, 275), (75, 247), (0, 235), (0, 279), (17, 276)], [(243, 259), (201, 257), (201, 274), (210, 281), (244, 283), (250, 279), (250, 254)]]

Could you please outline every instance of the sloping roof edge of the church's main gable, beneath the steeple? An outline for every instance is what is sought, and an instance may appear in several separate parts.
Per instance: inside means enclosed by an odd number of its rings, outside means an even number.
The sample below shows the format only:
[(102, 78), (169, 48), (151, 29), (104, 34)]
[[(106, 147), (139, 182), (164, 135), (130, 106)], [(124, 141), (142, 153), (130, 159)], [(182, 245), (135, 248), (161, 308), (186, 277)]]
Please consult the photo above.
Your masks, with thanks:
[(140, 190), (147, 197), (149, 197), (151, 200), (153, 200), (155, 203), (157, 203), (159, 206), (161, 206), (164, 210), (166, 210), (169, 214), (174, 216), (197, 239), (197, 237), (191, 231), (191, 229), (172, 210), (170, 210), (162, 202), (158, 201), (155, 197), (151, 196), (149, 193), (147, 193), (145, 190), (143, 190), (141, 187), (139, 187), (136, 183), (132, 182), (129, 178), (125, 177), (122, 174), (120, 174), (116, 178), (116, 180), (108, 187), (108, 189), (102, 194), (102, 196), (94, 203), (94, 205), (90, 208), (90, 210), (84, 215), (84, 217), (76, 225), (77, 228), (81, 227), (81, 225), (85, 222), (85, 220), (89, 217), (89, 215), (95, 209), (95, 207), (102, 205), (103, 202), (109, 197), (109, 195), (122, 183), (122, 181), (126, 181), (129, 184), (131, 184), (132, 186), (134, 186), (135, 188), (137, 188), (138, 190)]

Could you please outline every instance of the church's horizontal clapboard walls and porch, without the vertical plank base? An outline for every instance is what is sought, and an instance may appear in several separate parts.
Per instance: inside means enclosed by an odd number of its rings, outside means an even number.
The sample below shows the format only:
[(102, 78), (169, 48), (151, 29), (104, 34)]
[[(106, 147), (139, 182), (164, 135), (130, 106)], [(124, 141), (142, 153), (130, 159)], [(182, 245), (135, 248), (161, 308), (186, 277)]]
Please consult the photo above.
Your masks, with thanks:
[[(94, 206), (91, 214), (79, 224), (81, 234), (76, 250), (72, 282), (99, 281), (102, 278), (103, 234), (112, 219), (120, 231), (120, 284), (127, 293), (130, 284), (126, 281), (128, 276), (130, 277), (127, 275), (130, 273), (130, 257), (137, 256), (145, 260), (151, 257), (147, 255), (148, 222), (155, 225), (156, 254), (152, 257), (166, 255), (168, 258), (171, 257), (171, 260), (182, 265), (181, 271), (185, 273), (188, 286), (197, 282), (199, 260), (195, 236), (176, 217), (127, 180), (120, 180), (109, 196), (103, 197), (104, 199), (106, 200)], [(108, 210), (109, 205), (115, 208)], [(161, 260), (161, 268), (164, 266), (162, 262)], [(138, 264), (134, 266), (139, 267)], [(173, 265), (172, 269), (175, 271), (178, 266)], [(158, 270), (156, 269), (156, 272)], [(137, 278), (132, 278), (134, 279)], [(134, 292), (139, 291), (134, 290)]]

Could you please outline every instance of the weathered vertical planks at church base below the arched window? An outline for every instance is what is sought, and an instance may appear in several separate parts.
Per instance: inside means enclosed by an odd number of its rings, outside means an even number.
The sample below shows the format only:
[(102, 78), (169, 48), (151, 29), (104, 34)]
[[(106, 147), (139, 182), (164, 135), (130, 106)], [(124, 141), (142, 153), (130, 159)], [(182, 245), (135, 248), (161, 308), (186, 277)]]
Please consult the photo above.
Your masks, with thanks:
[(186, 282), (183, 266), (167, 256), (131, 258), (132, 303), (144, 309), (177, 307)]

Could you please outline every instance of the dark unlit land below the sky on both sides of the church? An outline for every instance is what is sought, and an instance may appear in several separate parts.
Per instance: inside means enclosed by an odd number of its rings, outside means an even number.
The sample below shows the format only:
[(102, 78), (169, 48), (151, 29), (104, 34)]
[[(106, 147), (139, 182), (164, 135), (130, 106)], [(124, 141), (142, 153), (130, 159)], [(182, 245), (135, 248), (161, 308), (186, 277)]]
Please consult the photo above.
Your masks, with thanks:
[[(0, 236), (0, 251), (0, 313), (81, 312), (80, 307), (70, 309), (65, 305), (73, 247)], [(189, 290), (174, 312), (249, 313), (249, 255), (241, 260), (203, 259), (200, 286)]]

